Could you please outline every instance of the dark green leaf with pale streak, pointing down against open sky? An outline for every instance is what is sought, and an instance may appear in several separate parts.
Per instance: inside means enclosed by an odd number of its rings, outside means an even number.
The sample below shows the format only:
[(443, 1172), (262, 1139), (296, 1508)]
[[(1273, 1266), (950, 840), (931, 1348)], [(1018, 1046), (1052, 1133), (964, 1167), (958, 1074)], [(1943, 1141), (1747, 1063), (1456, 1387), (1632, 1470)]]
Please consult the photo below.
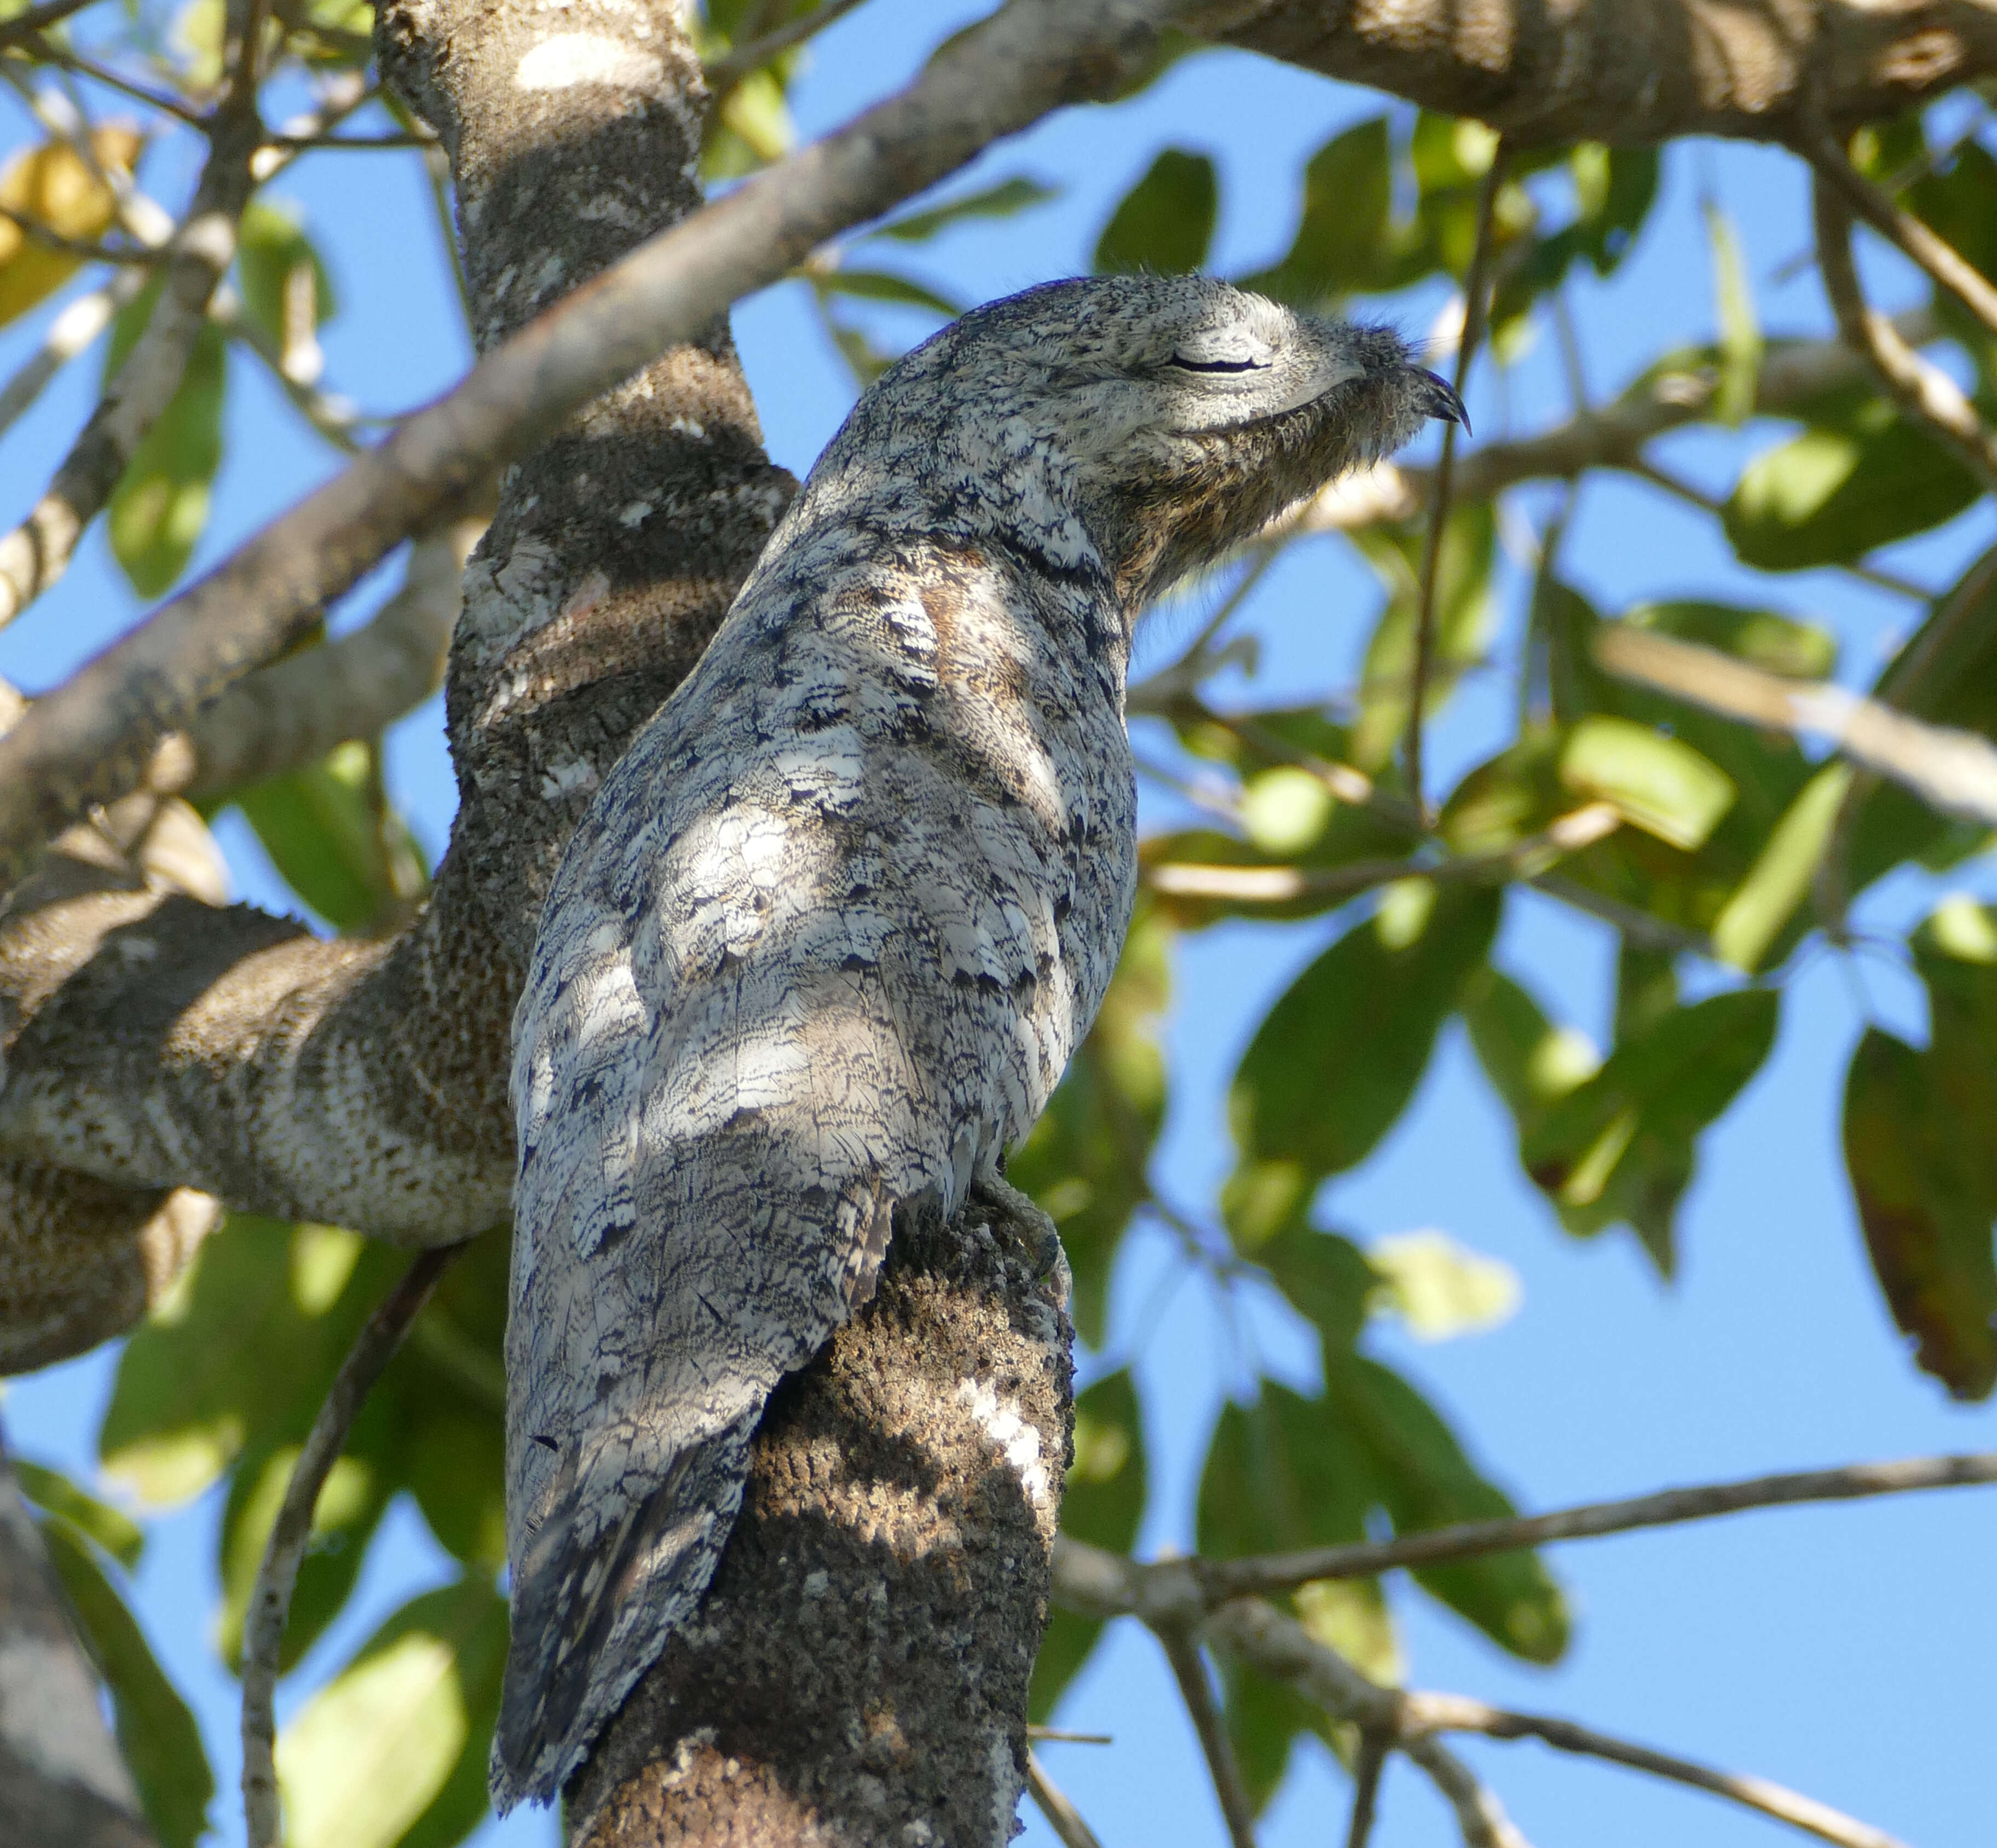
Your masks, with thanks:
[(1526, 1173), (1570, 1231), (1628, 1221), (1669, 1269), (1669, 1221), (1693, 1139), (1761, 1067), (1775, 1015), (1777, 997), (1763, 989), (1673, 1009), (1524, 1129)]

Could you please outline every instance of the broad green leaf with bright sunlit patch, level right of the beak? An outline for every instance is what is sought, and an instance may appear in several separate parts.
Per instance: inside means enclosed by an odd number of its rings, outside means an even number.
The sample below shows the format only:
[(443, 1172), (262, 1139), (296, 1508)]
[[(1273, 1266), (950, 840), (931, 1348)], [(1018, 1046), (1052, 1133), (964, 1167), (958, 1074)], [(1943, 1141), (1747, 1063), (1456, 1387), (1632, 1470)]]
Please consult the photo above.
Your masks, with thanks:
[(1953, 519), (1977, 497), (1969, 469), (1913, 424), (1869, 412), (1841, 426), (1805, 430), (1741, 471), (1723, 515), (1741, 563), (1851, 563)]

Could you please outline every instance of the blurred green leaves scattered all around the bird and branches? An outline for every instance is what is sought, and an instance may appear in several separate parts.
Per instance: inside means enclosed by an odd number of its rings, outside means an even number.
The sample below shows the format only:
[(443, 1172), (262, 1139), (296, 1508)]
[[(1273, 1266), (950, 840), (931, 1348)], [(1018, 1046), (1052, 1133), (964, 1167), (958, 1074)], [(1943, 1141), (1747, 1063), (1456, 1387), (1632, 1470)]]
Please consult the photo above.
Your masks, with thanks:
[[(813, 10), (809, 0), (707, 0), (699, 50), (713, 66)], [(214, 100), (220, 0), (98, 6), (50, 36), (78, 44), (86, 30), (94, 56), (124, 60), (128, 74), (176, 90), (188, 108)], [(365, 0), (280, 0), (270, 72), (284, 82), (351, 72), (369, 60), (369, 30)], [(1128, 94), (1194, 50), (1172, 38)], [(707, 182), (753, 172), (795, 144), (789, 88), (809, 56), (799, 44), (733, 72), (703, 152)], [(184, 134), (166, 116), (128, 124), (132, 106), (120, 100), (78, 146), (38, 138), (0, 166), (0, 322), (80, 274), (98, 286), (108, 278), (88, 246), (128, 240), (118, 190), (154, 138)], [(1977, 138), (1981, 124), (1931, 146), (1933, 120), (1873, 124), (1853, 140), (1853, 158), (1997, 276), (1997, 158)], [(379, 112), (367, 124), (343, 132), (397, 126)], [(1352, 306), (1414, 324), (1460, 290), (1488, 196), (1496, 360), (1510, 364), (1542, 330), (1564, 340), (1570, 298), (1586, 300), (1644, 236), (1660, 154), (1542, 146), (1518, 152), (1492, 184), (1496, 158), (1498, 138), (1472, 120), (1396, 106), (1346, 122), (1288, 182), (1294, 232), (1236, 280), (1306, 312)], [(1224, 164), (1164, 146), (1136, 154), (1128, 170), (1136, 178), (1102, 218), (1094, 266), (1206, 268), (1224, 222)], [(1046, 180), (1000, 168), (815, 252), (797, 278), (855, 382), (965, 306), (941, 280), (941, 252), (1054, 196)], [(1711, 344), (1658, 354), (1630, 392), (1677, 392), (1709, 428), (1747, 432), (1753, 454), (1711, 509), (1735, 557), (1767, 573), (1863, 567), (1877, 547), (1955, 519), (1975, 481), (1879, 392), (1839, 388), (1789, 404), (1779, 424), (1763, 416), (1763, 370), (1793, 342), (1761, 328), (1741, 238), (1717, 200), (1703, 204)], [(326, 364), (320, 338), (337, 310), (335, 278), (282, 192), (252, 202), (232, 288), (240, 312), (204, 328), (110, 505), (112, 555), (148, 597), (180, 579), (208, 529), (234, 370), (254, 356), (300, 404)], [(106, 378), (154, 298), (140, 292), (118, 314)], [(1931, 308), (1965, 386), (1989, 410), (1997, 342), (1947, 294)], [(1448, 314), (1430, 326), (1442, 344), (1454, 338)], [(1190, 765), (1208, 813), (1142, 843), (1146, 885), (1108, 999), (1010, 1163), (1060, 1227), (1074, 1323), (1096, 1357), (1076, 1402), (1062, 1510), (1074, 1538), (1130, 1552), (1154, 1512), (1148, 1331), (1128, 1335), (1110, 1315), (1110, 1279), (1146, 1229), (1168, 1233), (1182, 1265), (1220, 1297), (1246, 1291), (1284, 1305), (1318, 1353), (1308, 1388), (1244, 1369), (1200, 1472), (1202, 1552), (1286, 1550), (1508, 1512), (1494, 1480), (1502, 1470), (1478, 1462), (1474, 1442), (1374, 1343), (1382, 1323), (1428, 1341), (1492, 1327), (1516, 1307), (1518, 1279), (1442, 1229), (1368, 1245), (1332, 1231), (1338, 1179), (1408, 1125), (1436, 1047), (1460, 1037), (1512, 1121), (1520, 1175), (1546, 1203), (1548, 1225), (1576, 1239), (1626, 1229), (1669, 1277), (1699, 1139), (1763, 1069), (1801, 957), (1811, 945), (1849, 949), (1849, 899), (1893, 875), (1945, 871), (1987, 845), (1983, 831), (1855, 779), (1787, 735), (1717, 719), (1596, 665), (1598, 635), (1620, 621), (1797, 681), (1837, 677), (1831, 635), (1793, 613), (1789, 597), (1771, 587), (1765, 603), (1598, 609), (1560, 569), (1568, 513), (1538, 535), (1538, 563), (1522, 573), (1530, 587), (1514, 595), (1504, 559), (1524, 547), (1512, 515), (1516, 507), (1460, 499), (1442, 535), (1426, 713), (1512, 675), (1518, 723), (1454, 787), (1432, 791), (1434, 817), (1414, 807), (1402, 771), (1422, 601), (1418, 521), (1376, 521), (1340, 541), (1380, 583), (1358, 681), (1344, 695), (1258, 707), (1252, 647), (1202, 633), (1170, 697), (1152, 707), (1164, 723), (1150, 741), (1164, 739)], [(1979, 569), (1937, 593), (1879, 685), (1921, 717), (1997, 737), (1997, 579)], [(1516, 655), (1514, 631), (1524, 635)], [(1248, 693), (1226, 713), (1202, 691), (1222, 665), (1250, 671)], [(387, 799), (377, 739), (343, 743), (208, 807), (236, 807), (300, 907), (332, 929), (395, 929), (427, 887)], [(1608, 831), (1562, 847), (1560, 829), (1586, 811), (1606, 817)], [(1168, 869), (1202, 877), (1172, 881)], [(1536, 995), (1506, 969), (1508, 891), (1526, 881), (1618, 935), (1604, 1045), (1562, 1019), (1556, 1003), (1570, 997)], [(1180, 933), (1242, 921), (1314, 935), (1308, 953), (1304, 935), (1286, 939), (1298, 973), (1254, 1023), (1228, 1083), (1234, 1165), (1212, 1201), (1188, 1209), (1158, 1197), (1152, 1179), (1172, 1105), (1162, 1043), (1172, 949)], [(1246, 933), (1230, 941), (1286, 957)], [(1997, 1157), (1987, 1135), (1997, 1115), (1997, 915), (1943, 895), (1903, 949), (1933, 1027), (1925, 1045), (1883, 1027), (1857, 1045), (1845, 1073), (1845, 1161), (1881, 1297), (1915, 1365), (1959, 1398), (1985, 1398), (1997, 1386)], [(186, 1704), (128, 1610), (146, 1516), (216, 1498), (212, 1640), (234, 1666), (292, 1462), (339, 1357), (401, 1265), (349, 1231), (234, 1215), (124, 1347), (100, 1454), (128, 1506), (20, 1466), (166, 1848), (202, 1834), (214, 1778)], [(505, 1646), (505, 1237), (491, 1235), (445, 1277), (320, 1496), (284, 1640), (288, 1674), (335, 1634), (397, 1502), (425, 1522), (449, 1576), (288, 1702), (280, 1776), (296, 1848), (449, 1848), (485, 1814)], [(1434, 1568), (1414, 1582), (1522, 1660), (1556, 1660), (1568, 1644), (1568, 1604), (1532, 1554)], [(1396, 1596), (1372, 1580), (1332, 1582), (1288, 1604), (1314, 1636), (1394, 1680)], [(1036, 1720), (1074, 1684), (1098, 1634), (1100, 1624), (1054, 1614), (1032, 1682)], [(1350, 1754), (1352, 1740), (1288, 1690), (1240, 1664), (1224, 1662), (1222, 1674), (1258, 1804), (1300, 1736)]]

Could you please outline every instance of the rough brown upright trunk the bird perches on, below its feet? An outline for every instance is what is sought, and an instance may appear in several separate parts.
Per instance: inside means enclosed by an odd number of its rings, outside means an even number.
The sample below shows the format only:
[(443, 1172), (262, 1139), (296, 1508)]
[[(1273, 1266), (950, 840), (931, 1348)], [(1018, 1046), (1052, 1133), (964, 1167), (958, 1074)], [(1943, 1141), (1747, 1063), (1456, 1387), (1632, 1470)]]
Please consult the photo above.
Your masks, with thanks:
[(569, 1784), (573, 1848), (1012, 1836), (1064, 1309), (1006, 1227), (897, 1227), (875, 1301), (771, 1400), (699, 1622)]

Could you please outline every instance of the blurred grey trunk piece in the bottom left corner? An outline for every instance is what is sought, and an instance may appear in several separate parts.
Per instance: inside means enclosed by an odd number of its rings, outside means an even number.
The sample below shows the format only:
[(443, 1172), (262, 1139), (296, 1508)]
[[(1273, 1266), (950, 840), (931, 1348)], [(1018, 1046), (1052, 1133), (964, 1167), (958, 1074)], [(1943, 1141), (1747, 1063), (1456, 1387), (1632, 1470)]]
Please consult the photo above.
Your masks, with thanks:
[(0, 1450), (0, 1842), (154, 1848), (154, 1840)]

